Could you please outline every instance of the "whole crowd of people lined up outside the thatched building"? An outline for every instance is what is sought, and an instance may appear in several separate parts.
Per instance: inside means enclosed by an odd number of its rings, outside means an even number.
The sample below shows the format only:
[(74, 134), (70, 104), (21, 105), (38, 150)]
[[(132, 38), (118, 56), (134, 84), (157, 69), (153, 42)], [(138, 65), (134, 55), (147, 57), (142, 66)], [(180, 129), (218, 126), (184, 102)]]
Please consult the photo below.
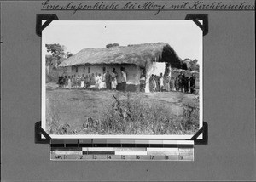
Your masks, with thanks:
[[(59, 77), (58, 85), (59, 88), (84, 88), (84, 89), (94, 89), (94, 90), (116, 90), (118, 82), (117, 77), (119, 77), (115, 68), (110, 73), (109, 71), (103, 71), (101, 73), (91, 73), (88, 75), (72, 75), (72, 76), (62, 76)], [(121, 67), (121, 76), (119, 83), (119, 90), (126, 91), (126, 79), (127, 75), (125, 68)], [(183, 93), (195, 94), (195, 74), (191, 77), (185, 77), (183, 72), (177, 77), (170, 77), (168, 75), (160, 76), (151, 75), (149, 78), (149, 90), (150, 92), (170, 92), (170, 91), (180, 91)], [(143, 81), (143, 82), (142, 82)], [(143, 92), (145, 88), (145, 79), (141, 80), (140, 90)]]

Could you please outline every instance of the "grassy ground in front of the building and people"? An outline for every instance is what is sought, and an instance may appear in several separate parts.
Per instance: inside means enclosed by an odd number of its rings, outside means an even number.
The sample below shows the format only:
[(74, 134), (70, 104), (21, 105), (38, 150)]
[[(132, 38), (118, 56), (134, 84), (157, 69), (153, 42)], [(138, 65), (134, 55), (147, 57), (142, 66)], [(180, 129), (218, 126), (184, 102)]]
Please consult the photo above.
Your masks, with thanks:
[(49, 134), (195, 134), (198, 95), (46, 89)]

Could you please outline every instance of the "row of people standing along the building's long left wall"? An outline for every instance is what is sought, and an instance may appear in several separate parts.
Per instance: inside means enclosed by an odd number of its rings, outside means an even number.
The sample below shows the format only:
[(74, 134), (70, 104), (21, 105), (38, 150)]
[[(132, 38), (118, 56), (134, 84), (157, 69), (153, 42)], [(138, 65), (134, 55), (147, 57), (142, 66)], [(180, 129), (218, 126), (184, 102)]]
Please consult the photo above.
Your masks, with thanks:
[[(72, 75), (72, 76), (61, 76), (58, 79), (59, 88), (85, 88), (85, 89), (113, 89), (116, 90), (117, 87), (117, 78), (118, 73), (113, 68), (113, 71), (109, 73), (109, 71), (103, 71), (101, 73), (91, 73), (88, 75), (82, 74), (80, 75)], [(126, 72), (125, 68), (121, 68), (121, 83), (122, 88), (126, 88)]]

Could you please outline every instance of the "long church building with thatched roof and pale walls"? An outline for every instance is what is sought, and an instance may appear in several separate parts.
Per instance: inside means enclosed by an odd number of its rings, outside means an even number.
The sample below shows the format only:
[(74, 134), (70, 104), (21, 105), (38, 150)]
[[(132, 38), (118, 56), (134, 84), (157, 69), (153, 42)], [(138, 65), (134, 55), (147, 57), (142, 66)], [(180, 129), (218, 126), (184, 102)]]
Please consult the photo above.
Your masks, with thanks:
[[(183, 65), (183, 60), (168, 43), (143, 43), (109, 48), (84, 48), (61, 62), (59, 66), (67, 67), (68, 75), (103, 74), (114, 68), (119, 76), (123, 67), (127, 72), (128, 91), (140, 90), (140, 81), (144, 77), (145, 92), (149, 92), (149, 77), (153, 73), (170, 75), (172, 68), (183, 68)], [(117, 77), (117, 82), (119, 87), (121, 77)]]

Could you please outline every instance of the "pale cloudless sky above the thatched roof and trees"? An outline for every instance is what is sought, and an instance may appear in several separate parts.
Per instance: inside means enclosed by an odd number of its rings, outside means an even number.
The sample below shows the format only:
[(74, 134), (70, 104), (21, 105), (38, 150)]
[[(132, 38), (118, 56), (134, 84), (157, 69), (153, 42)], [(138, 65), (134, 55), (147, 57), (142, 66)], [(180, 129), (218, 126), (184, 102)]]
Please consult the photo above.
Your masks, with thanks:
[(73, 54), (83, 48), (106, 48), (108, 43), (168, 43), (181, 59), (197, 59), (200, 65), (202, 61), (202, 31), (192, 20), (55, 20), (42, 38)]

